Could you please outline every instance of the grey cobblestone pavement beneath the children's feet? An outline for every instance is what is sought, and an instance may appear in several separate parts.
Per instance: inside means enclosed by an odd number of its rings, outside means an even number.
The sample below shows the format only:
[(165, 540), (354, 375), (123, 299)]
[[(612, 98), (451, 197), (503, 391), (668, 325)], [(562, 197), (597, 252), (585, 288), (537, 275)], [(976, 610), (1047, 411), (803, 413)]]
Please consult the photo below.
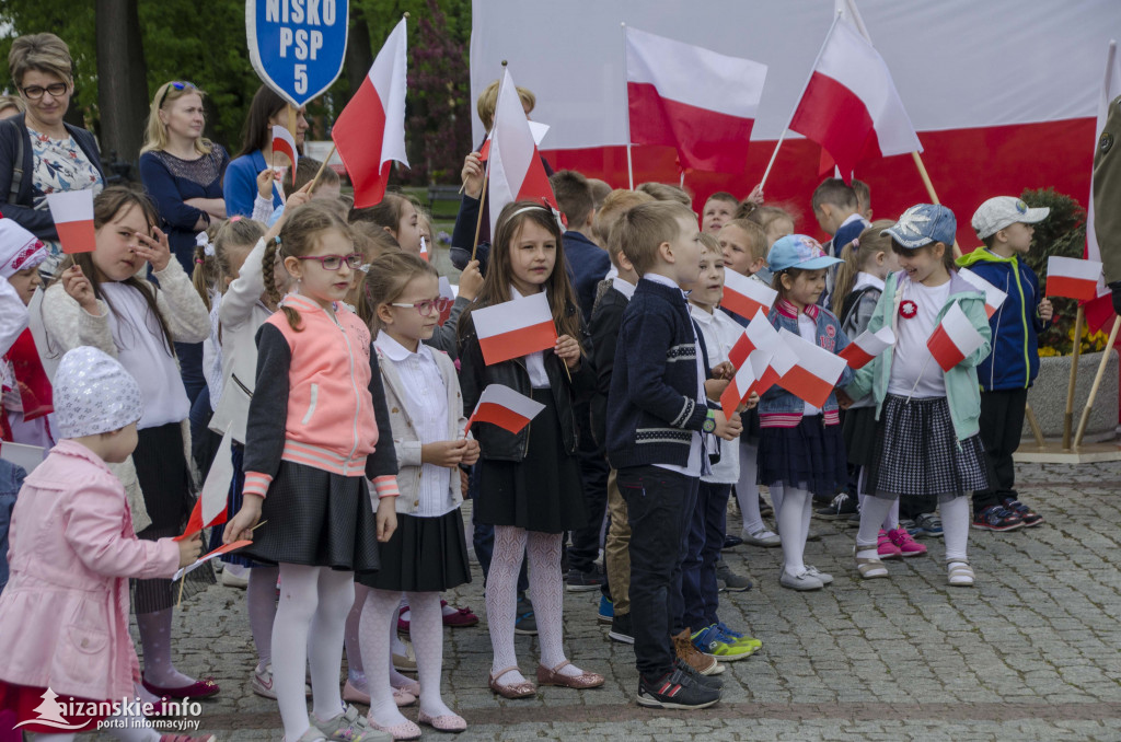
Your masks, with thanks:
[[(975, 588), (946, 586), (942, 542), (930, 556), (860, 582), (854, 531), (815, 521), (808, 560), (836, 583), (817, 593), (778, 586), (777, 549), (725, 553), (758, 585), (723, 599), (722, 615), (763, 641), (729, 665), (724, 701), (700, 713), (632, 702), (633, 655), (595, 623), (597, 593), (569, 593), (567, 644), (604, 688), (544, 689), (495, 699), (487, 688), (485, 621), (450, 631), (445, 694), (469, 740), (1121, 740), (1121, 464), (1021, 466), (1022, 498), (1047, 523), (971, 531)], [(450, 597), (483, 616), (482, 582)], [(252, 695), (252, 644), (241, 591), (215, 586), (177, 618), (179, 667), (213, 675), (203, 729), (222, 740), (280, 740), (274, 702)], [(537, 644), (519, 637), (521, 666)], [(407, 715), (415, 718), (415, 711)], [(427, 731), (427, 739), (436, 733)]]

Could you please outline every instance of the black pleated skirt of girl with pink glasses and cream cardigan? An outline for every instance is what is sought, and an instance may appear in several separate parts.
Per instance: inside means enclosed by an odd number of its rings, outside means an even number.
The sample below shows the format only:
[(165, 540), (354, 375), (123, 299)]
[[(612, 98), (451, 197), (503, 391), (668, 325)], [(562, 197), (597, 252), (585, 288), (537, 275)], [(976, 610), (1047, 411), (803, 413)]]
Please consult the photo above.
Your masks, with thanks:
[(471, 582), (467, 538), (460, 509), (436, 516), (397, 516), (397, 530), (380, 544), (381, 569), (355, 579), (374, 590), (438, 593)]

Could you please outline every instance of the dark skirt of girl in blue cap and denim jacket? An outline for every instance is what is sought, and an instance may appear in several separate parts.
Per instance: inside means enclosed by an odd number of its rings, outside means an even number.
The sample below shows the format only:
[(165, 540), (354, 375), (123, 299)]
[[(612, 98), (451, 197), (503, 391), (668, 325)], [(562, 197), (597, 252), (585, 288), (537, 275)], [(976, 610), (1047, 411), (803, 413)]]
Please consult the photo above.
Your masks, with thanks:
[(840, 425), (824, 417), (803, 417), (793, 428), (762, 428), (759, 436), (759, 483), (781, 482), (832, 498), (849, 482)]

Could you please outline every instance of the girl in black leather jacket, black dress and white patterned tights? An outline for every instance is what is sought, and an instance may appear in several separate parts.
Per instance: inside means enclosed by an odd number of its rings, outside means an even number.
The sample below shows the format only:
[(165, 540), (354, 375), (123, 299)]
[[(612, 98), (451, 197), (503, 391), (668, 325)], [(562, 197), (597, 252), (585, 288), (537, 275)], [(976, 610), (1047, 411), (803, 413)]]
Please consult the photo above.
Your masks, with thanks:
[[(471, 318), (472, 309), (544, 291), (557, 325), (553, 351), (538, 351), (487, 365)], [(494, 660), (490, 687), (506, 698), (537, 693), (518, 669), (513, 649), (518, 571), (529, 546), (529, 586), (541, 641), (537, 681), (571, 688), (603, 685), (564, 656), (562, 611), (564, 531), (587, 522), (573, 395), (590, 393), (595, 382), (583, 358), (576, 295), (564, 270), (560, 228), (553, 213), (528, 201), (508, 204), (499, 215), (490, 265), (476, 303), (462, 315), (460, 359), (464, 410), (473, 410), (483, 389), (501, 383), (532, 397), (545, 409), (513, 435), (490, 424), (476, 428), (482, 470), (475, 517), (494, 526), (494, 554), (487, 576), (487, 620)]]

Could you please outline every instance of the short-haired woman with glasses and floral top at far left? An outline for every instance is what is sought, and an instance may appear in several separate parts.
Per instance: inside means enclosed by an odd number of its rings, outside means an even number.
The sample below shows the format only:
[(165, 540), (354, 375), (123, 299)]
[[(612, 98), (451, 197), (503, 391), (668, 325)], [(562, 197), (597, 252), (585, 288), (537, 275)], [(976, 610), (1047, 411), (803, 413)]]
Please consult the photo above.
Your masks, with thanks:
[(0, 212), (43, 240), (59, 261), (58, 233), (47, 194), (105, 186), (93, 135), (63, 121), (74, 93), (70, 47), (54, 34), (20, 36), (11, 44), (8, 68), (27, 111), (0, 121)]

